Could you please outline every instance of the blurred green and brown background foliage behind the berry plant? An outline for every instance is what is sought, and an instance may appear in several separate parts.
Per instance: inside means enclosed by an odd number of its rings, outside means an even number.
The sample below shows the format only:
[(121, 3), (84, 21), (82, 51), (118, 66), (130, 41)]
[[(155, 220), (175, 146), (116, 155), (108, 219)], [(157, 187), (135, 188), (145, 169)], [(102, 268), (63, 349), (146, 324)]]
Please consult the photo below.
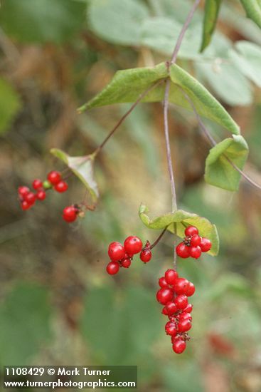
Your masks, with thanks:
[[(202, 2), (203, 3), (203, 2)], [(203, 4), (179, 64), (225, 105), (250, 145), (245, 171), (261, 183), (260, 29), (238, 1), (224, 1), (213, 43), (198, 54)], [(169, 58), (190, 1), (3, 0), (0, 9), (0, 361), (26, 364), (130, 364), (139, 391), (261, 391), (260, 192), (237, 194), (203, 181), (209, 146), (196, 118), (173, 107), (171, 148), (179, 205), (218, 227), (220, 254), (179, 260), (196, 285), (186, 353), (172, 352), (156, 303), (157, 281), (171, 267), (166, 234), (149, 264), (117, 277), (105, 272), (107, 245), (136, 234), (154, 241), (138, 217), (171, 206), (162, 108), (140, 104), (95, 165), (100, 202), (73, 225), (63, 208), (84, 197), (77, 178), (22, 212), (17, 187), (63, 169), (48, 153), (91, 153), (129, 105), (78, 115), (118, 69)], [(238, 41), (244, 48), (237, 46)], [(242, 50), (241, 50), (242, 49)], [(205, 121), (215, 137), (225, 135)], [(53, 192), (54, 193), (54, 192)]]

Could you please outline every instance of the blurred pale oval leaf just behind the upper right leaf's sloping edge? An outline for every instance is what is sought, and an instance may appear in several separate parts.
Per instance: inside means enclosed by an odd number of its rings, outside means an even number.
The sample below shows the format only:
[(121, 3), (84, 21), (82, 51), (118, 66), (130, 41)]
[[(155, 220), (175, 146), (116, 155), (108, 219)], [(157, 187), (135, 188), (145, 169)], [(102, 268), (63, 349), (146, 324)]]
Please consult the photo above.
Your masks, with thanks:
[[(222, 63), (197, 63), (198, 76), (228, 105), (250, 105), (253, 89), (250, 81), (231, 60)], [(234, 132), (235, 133), (235, 132)]]

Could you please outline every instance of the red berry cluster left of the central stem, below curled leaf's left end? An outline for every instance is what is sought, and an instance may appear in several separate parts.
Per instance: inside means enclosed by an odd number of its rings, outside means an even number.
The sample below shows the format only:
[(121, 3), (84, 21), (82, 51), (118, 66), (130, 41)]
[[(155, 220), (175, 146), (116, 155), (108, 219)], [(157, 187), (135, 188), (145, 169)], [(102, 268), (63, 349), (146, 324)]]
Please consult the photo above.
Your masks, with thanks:
[(151, 249), (148, 241), (143, 249), (142, 240), (139, 237), (129, 236), (125, 239), (123, 245), (119, 242), (112, 242), (108, 247), (111, 261), (107, 265), (107, 273), (114, 275), (119, 271), (119, 267), (129, 268), (134, 254), (139, 252), (142, 262), (147, 263), (151, 260)]

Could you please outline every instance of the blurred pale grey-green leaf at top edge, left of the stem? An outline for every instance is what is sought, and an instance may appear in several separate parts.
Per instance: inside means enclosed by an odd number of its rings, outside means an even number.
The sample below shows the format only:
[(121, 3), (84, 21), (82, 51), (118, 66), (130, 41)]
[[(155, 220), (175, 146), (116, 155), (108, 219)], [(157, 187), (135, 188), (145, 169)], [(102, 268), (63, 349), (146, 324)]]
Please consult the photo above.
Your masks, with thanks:
[(120, 45), (139, 45), (142, 21), (149, 10), (140, 0), (92, 0), (87, 17), (100, 38)]

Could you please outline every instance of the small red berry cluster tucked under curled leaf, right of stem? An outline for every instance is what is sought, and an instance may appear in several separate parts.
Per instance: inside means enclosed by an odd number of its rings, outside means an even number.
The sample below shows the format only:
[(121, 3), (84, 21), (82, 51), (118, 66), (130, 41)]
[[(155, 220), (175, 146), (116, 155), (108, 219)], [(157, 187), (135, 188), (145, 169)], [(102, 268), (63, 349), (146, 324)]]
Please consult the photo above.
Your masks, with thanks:
[(176, 254), (182, 259), (188, 257), (198, 259), (202, 252), (208, 252), (211, 249), (211, 241), (208, 238), (200, 237), (196, 227), (186, 227), (185, 236), (183, 242), (176, 247)]

